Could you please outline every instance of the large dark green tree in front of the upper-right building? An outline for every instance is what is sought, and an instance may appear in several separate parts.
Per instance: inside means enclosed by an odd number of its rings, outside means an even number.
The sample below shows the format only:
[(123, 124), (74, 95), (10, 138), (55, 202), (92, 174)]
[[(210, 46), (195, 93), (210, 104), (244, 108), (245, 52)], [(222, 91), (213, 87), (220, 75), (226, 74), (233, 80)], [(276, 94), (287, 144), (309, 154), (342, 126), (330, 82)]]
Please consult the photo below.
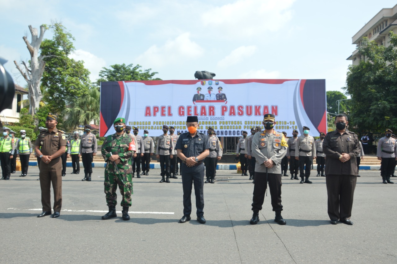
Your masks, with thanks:
[(365, 60), (349, 66), (344, 89), (352, 97), (350, 115), (359, 132), (397, 126), (397, 35), (390, 31), (389, 38), (388, 47), (364, 38), (358, 52)]

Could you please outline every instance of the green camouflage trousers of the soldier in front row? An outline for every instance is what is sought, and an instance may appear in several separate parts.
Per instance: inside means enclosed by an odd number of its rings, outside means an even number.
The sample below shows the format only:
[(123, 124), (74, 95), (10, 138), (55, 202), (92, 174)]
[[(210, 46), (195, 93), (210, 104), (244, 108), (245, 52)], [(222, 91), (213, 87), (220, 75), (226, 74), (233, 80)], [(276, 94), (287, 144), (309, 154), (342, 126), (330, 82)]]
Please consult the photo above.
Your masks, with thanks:
[[(123, 178), (123, 183), (120, 180), (120, 177)], [(133, 194), (132, 190), (132, 174), (114, 174), (106, 172), (105, 170), (105, 194), (106, 194), (106, 202), (108, 206), (117, 204), (117, 185), (120, 189), (120, 194), (123, 197), (123, 200), (120, 202), (121, 206), (131, 206), (131, 195)]]

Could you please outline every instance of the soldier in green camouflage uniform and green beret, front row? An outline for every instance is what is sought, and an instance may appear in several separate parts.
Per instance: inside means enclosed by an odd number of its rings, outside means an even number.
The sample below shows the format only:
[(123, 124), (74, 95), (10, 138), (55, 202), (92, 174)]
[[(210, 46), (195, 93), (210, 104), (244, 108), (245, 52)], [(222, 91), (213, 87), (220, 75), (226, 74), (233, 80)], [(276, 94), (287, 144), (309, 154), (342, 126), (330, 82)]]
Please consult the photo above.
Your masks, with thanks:
[(123, 220), (129, 220), (128, 209), (131, 206), (132, 190), (132, 163), (131, 157), (135, 149), (135, 142), (125, 133), (125, 119), (116, 118), (113, 122), (116, 133), (105, 138), (102, 144), (102, 156), (106, 161), (105, 194), (109, 212), (102, 216), (103, 220), (114, 218), (117, 204), (117, 185), (122, 195)]

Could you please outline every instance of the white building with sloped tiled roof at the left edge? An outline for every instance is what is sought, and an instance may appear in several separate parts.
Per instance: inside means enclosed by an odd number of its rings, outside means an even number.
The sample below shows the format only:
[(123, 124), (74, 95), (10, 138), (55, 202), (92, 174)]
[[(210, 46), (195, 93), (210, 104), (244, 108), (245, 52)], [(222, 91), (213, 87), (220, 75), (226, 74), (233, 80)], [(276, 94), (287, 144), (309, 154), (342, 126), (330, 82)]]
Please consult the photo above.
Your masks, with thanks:
[(23, 87), (15, 85), (15, 95), (11, 104), (8, 106), (8, 108), (0, 112), (0, 121), (3, 125), (13, 125), (14, 123), (19, 122), (19, 112), (21, 112), (21, 108), (23, 107), (21, 101), (23, 100), (23, 95), (25, 94), (28, 94), (28, 92), (25, 91)]

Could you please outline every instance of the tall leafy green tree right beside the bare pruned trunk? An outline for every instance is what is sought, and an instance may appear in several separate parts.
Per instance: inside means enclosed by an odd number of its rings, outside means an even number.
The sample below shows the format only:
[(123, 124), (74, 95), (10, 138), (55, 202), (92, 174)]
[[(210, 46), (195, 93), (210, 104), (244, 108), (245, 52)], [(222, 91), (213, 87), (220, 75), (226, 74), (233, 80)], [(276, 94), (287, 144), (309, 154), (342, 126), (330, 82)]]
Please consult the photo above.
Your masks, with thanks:
[(90, 87), (89, 70), (83, 61), (68, 56), (75, 50), (71, 33), (60, 24), (52, 25), (54, 36), (41, 43), (41, 54), (48, 56), (41, 79), (44, 87), (44, 102), (53, 113), (62, 111), (77, 98), (86, 96)]

